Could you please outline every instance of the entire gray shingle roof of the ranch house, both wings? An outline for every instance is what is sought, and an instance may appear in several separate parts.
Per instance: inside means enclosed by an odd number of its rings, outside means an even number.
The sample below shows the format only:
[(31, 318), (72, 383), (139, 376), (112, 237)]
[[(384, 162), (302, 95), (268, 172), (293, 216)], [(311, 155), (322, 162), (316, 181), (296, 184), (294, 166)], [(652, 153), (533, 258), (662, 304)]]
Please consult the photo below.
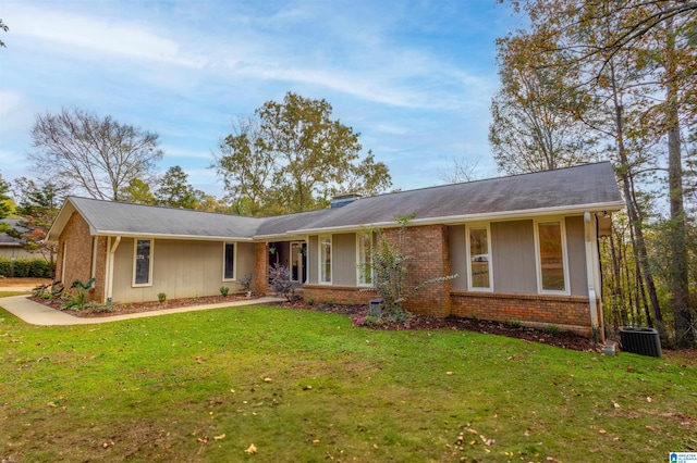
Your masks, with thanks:
[[(75, 197), (69, 201), (96, 234), (222, 239), (359, 228), (390, 224), (395, 215), (411, 213), (416, 214), (415, 223), (424, 223), (623, 205), (609, 162), (379, 195), (337, 209), (265, 218)], [(62, 226), (64, 222), (58, 228)], [(57, 238), (53, 233), (50, 239)]]

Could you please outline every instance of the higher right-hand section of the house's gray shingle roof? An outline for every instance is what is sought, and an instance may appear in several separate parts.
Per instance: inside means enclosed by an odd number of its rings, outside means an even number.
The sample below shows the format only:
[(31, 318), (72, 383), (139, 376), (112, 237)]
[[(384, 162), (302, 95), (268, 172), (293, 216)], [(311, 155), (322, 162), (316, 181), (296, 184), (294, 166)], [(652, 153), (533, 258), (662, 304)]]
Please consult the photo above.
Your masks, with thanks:
[(601, 205), (622, 207), (609, 162), (363, 198), (329, 210), (301, 229), (386, 224), (411, 213), (417, 222)]

